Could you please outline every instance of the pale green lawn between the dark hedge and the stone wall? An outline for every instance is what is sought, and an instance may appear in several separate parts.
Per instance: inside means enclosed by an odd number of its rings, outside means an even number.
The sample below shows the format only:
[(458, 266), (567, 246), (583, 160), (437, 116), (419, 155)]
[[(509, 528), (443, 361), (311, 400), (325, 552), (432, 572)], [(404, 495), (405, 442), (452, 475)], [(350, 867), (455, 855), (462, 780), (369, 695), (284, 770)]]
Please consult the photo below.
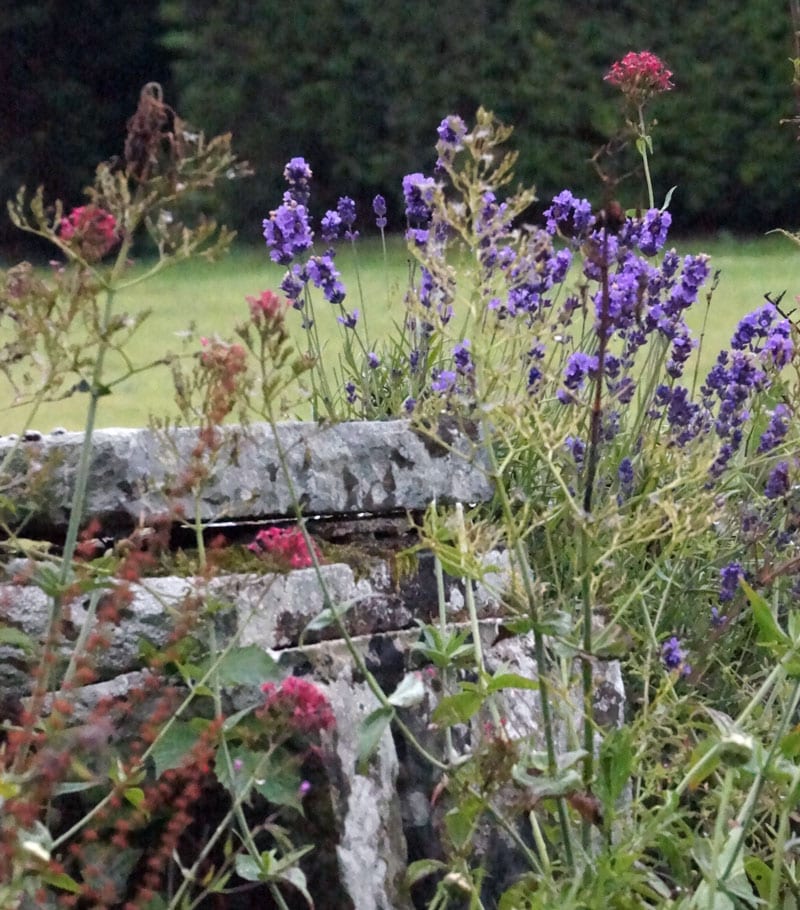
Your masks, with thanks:
[[(788, 309), (800, 294), (800, 250), (785, 237), (772, 235), (746, 240), (683, 241), (681, 252), (705, 251), (712, 256), (712, 267), (720, 270), (720, 283), (712, 300), (701, 355), (701, 370), (706, 369), (725, 347), (731, 331), (742, 315), (760, 306), (764, 294), (786, 291)], [(403, 289), (407, 283), (409, 256), (404, 243), (390, 243), (387, 267), (378, 242), (360, 243), (357, 265), (353, 253), (343, 248), (337, 257), (348, 288), (348, 308), (366, 314), (370, 337), (382, 337), (393, 323), (403, 318)], [(277, 289), (283, 269), (270, 262), (264, 249), (235, 249), (218, 263), (187, 263), (170, 269), (119, 296), (119, 308), (129, 313), (150, 309), (151, 316), (139, 329), (129, 348), (134, 363), (145, 363), (165, 351), (194, 351), (200, 336), (230, 336), (237, 322), (247, 318), (245, 297), (266, 288)], [(358, 276), (358, 277), (357, 277)], [(361, 291), (358, 283), (360, 281)], [(699, 333), (705, 311), (704, 301), (689, 316), (692, 329)], [(336, 308), (315, 297), (316, 316), (323, 337), (336, 337)], [(290, 314), (292, 316), (294, 314)], [(302, 342), (299, 317), (297, 339)], [(192, 335), (185, 335), (191, 330)], [(337, 356), (335, 346), (331, 356)], [(110, 366), (115, 366), (113, 359)], [(113, 379), (113, 372), (109, 378)], [(6, 388), (0, 395), (9, 398)], [(137, 374), (115, 387), (100, 404), (100, 426), (142, 426), (155, 413), (170, 413), (172, 383), (168, 370), (158, 367)], [(55, 426), (81, 429), (86, 400), (75, 395), (64, 401), (44, 405), (34, 425), (42, 431)], [(0, 409), (0, 433), (17, 432), (25, 424), (22, 408)]]

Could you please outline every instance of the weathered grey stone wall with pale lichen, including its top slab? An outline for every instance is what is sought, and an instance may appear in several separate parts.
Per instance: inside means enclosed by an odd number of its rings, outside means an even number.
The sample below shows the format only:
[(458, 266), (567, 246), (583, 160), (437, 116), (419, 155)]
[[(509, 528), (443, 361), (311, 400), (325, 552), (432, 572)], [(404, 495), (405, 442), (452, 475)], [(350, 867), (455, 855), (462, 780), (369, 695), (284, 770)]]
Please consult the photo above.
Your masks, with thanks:
[[(149, 431), (98, 433), (89, 514), (98, 516), (106, 528), (125, 534), (134, 523), (146, 522), (148, 515), (174, 513), (175, 503), (165, 497), (164, 487), (180, 473), (181, 459), (190, 457), (196, 439), (192, 430), (177, 431), (168, 445)], [(68, 516), (80, 441), (77, 434), (44, 437), (18, 445), (9, 459), (21, 488), (31, 478), (41, 478), (33, 520), (39, 529), (49, 528), (56, 541)], [(0, 457), (12, 445), (0, 443)], [(397, 730), (389, 728), (368, 772), (357, 773), (358, 726), (379, 703), (336, 625), (316, 630), (308, 626), (326, 604), (349, 605), (343, 619), (348, 635), (384, 691), (393, 691), (408, 674), (419, 674), (418, 703), (400, 716), (428, 749), (443, 754), (442, 734), (430, 726), (431, 712), (442, 695), (441, 679), (426, 672), (414, 650), (420, 637), (418, 623), (431, 622), (438, 614), (433, 561), (422, 554), (413, 572), (398, 577), (392, 556), (382, 555), (376, 546), (375, 528), (380, 528), (384, 544), (392, 531), (407, 542), (412, 533), (407, 514), (420, 513), (434, 498), (438, 502), (488, 500), (491, 484), (477, 435), (446, 423), (435, 433), (406, 422), (284, 425), (277, 434), (265, 427), (233, 428), (226, 432), (212, 481), (200, 500), (201, 519), (225, 522), (230, 528), (231, 523), (244, 520), (291, 516), (292, 498), (279, 448), (300, 491), (304, 513), (315, 518), (315, 530), (329, 539), (345, 536), (352, 547), (359, 540), (359, 529), (366, 528), (369, 552), (355, 566), (323, 565), (320, 576), (313, 569), (303, 569), (211, 580), (140, 580), (132, 585), (130, 606), (110, 630), (109, 646), (99, 655), (101, 681), (76, 694), (77, 717), (88, 713), (100, 698), (124, 699), (131, 687), (140, 686), (142, 674), (148, 672), (139, 656), (142, 642), (161, 647), (182, 603), (213, 597), (221, 605), (214, 618), (219, 647), (235, 640), (263, 648), (287, 673), (312, 677), (327, 693), (336, 716), (335, 729), (324, 734), (322, 784), (316, 797), (325, 801), (319, 817), (331, 819), (333, 830), (319, 838), (319, 849), (304, 864), (312, 892), (315, 883), (320, 890), (315, 894), (317, 910), (425, 906), (426, 885), (411, 895), (403, 887), (403, 876), (409, 861), (441, 854), (441, 809), (433, 798), (439, 775)], [(186, 498), (178, 511), (191, 520), (193, 507)], [(536, 679), (530, 637), (500, 634), (508, 618), (504, 604), (511, 572), (507, 555), (487, 553), (485, 559), (497, 570), (487, 575), (491, 585), (479, 585), (475, 591), (486, 667), (490, 672), (502, 667)], [(41, 637), (48, 598), (40, 587), (25, 583), (25, 560), (12, 561), (6, 569), (8, 580), (0, 585), (0, 620)], [(446, 579), (445, 592), (448, 621), (454, 626), (466, 623), (462, 580)], [(70, 605), (73, 629), (80, 629), (87, 607), (88, 597), (77, 597)], [(69, 629), (64, 629), (64, 635), (67, 656), (73, 641)], [(24, 666), (23, 653), (11, 645), (0, 647), (2, 703), (24, 694), (28, 684)], [(618, 665), (597, 663), (595, 674), (598, 723), (621, 723), (624, 691)], [(231, 711), (258, 697), (258, 691), (248, 687), (234, 688), (226, 695)], [(576, 714), (573, 704), (578, 703), (574, 692), (564, 696), (559, 735), (565, 748)], [(498, 711), (510, 737), (530, 748), (542, 748), (538, 692), (507, 690), (499, 699)], [(475, 725), (485, 721), (479, 716), (472, 725), (456, 729), (458, 748), (464, 754), (477, 739)], [(123, 736), (124, 731), (115, 735)], [(525, 831), (520, 833), (526, 836)], [(513, 844), (498, 838), (487, 833), (485, 846), (487, 881), (495, 890), (510, 881), (521, 862)], [(493, 906), (490, 893), (486, 905)]]

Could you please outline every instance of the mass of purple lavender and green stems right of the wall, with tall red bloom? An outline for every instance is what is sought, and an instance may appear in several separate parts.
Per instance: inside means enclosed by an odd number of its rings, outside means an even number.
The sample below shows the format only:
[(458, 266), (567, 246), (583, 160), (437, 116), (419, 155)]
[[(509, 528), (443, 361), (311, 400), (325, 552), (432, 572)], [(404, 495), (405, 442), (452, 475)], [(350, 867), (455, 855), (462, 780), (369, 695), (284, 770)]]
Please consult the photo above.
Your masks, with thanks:
[[(668, 246), (671, 216), (653, 206), (643, 113), (670, 77), (652, 54), (629, 55), (607, 76), (636, 108), (644, 211), (611, 200), (598, 208), (565, 190), (537, 225), (534, 192), (508, 190), (510, 131), (483, 110), (471, 129), (445, 118), (435, 172), (403, 181), (416, 268), (399, 337), (388, 356), (359, 337), (350, 372), (326, 372), (336, 375), (326, 406), (342, 415), (388, 361), (405, 394), (373, 390), (372, 414), (380, 402), (422, 426), (442, 412), (480, 425), (513, 566), (508, 622), (532, 636), (537, 658), (529, 682), (544, 743), (511, 741), (492, 722), (499, 687), (477, 651), (477, 682), (447, 677), (439, 725), (485, 716), (489, 726), (484, 735), (473, 726), (465, 754), (453, 755), (452, 738), (443, 753), (450, 852), (410, 873), (414, 882), (440, 876), (432, 907), (455, 895), (483, 906), (473, 852), (481, 819), (519, 831), (500, 808), (509, 800), (498, 802), (498, 774), (517, 804), (533, 807), (533, 839), (517, 843), (530, 874), (499, 906), (777, 906), (794, 890), (782, 853), (791, 824), (768, 793), (797, 774), (796, 642), (773, 618), (786, 615), (800, 569), (797, 330), (767, 298), (698, 375), (686, 314), (708, 310), (716, 276), (706, 255)], [(273, 258), (279, 211), (265, 222)], [(375, 211), (383, 230), (380, 200)], [(327, 242), (338, 222), (323, 220)], [(300, 233), (305, 252), (310, 233)], [(291, 264), (284, 279), (298, 308), (312, 284), (341, 306), (340, 276), (309, 265)], [(358, 337), (358, 315), (342, 313), (346, 339)], [(468, 590), (486, 583), (475, 553), (454, 547), (441, 523), (426, 524), (423, 540)], [(422, 653), (443, 668), (469, 653), (441, 624), (423, 635)], [(618, 730), (599, 728), (593, 711), (595, 673), (610, 656), (624, 659), (635, 705)], [(577, 728), (571, 680), (582, 692)], [(391, 702), (380, 711), (371, 723), (395, 716)]]

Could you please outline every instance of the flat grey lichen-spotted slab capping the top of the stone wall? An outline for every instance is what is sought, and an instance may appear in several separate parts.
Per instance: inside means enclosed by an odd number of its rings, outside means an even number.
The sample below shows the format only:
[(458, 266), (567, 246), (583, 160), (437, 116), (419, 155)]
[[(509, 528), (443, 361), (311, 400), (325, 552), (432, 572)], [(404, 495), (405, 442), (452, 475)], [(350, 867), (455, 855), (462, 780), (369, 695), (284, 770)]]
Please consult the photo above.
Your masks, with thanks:
[[(400, 420), (285, 423), (277, 432), (254, 424), (220, 432), (218, 451), (202, 461), (209, 469), (199, 503), (203, 521), (293, 515), (281, 451), (309, 515), (402, 512), (424, 509), (434, 497), (484, 502), (492, 495), (477, 433), (452, 419), (431, 431)], [(138, 521), (178, 509), (193, 518), (194, 497), (181, 485), (198, 440), (191, 427), (97, 430), (87, 516)], [(82, 433), (0, 439), (6, 488), (37, 490), (39, 520), (66, 524), (82, 442)]]

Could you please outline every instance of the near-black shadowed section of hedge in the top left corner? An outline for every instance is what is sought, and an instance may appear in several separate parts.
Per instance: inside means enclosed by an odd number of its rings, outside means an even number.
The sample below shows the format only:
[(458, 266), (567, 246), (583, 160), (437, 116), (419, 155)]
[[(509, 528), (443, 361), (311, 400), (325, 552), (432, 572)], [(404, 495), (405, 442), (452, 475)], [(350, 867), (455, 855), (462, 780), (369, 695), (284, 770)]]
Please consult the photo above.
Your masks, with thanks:
[[(5, 214), (21, 184), (83, 205), (98, 161), (122, 153), (146, 82), (171, 92), (156, 0), (7, 3), (0, 16), (0, 246), (19, 242)], [(14, 250), (8, 250), (9, 258)]]

